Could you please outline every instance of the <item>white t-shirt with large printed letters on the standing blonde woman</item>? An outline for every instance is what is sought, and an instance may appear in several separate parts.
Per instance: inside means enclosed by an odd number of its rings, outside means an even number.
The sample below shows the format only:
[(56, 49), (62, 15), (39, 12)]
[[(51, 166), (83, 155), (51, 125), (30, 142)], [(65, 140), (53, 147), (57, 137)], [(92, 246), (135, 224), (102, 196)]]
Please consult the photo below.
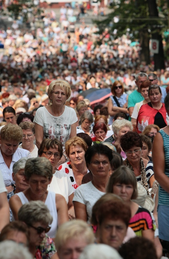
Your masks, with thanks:
[[(65, 105), (64, 112), (59, 117), (54, 117), (45, 106), (37, 109), (33, 122), (44, 128), (44, 138), (57, 138), (61, 141), (63, 150), (65, 142), (69, 139), (71, 125), (78, 121), (73, 108)], [(36, 133), (38, 134), (38, 133)]]

